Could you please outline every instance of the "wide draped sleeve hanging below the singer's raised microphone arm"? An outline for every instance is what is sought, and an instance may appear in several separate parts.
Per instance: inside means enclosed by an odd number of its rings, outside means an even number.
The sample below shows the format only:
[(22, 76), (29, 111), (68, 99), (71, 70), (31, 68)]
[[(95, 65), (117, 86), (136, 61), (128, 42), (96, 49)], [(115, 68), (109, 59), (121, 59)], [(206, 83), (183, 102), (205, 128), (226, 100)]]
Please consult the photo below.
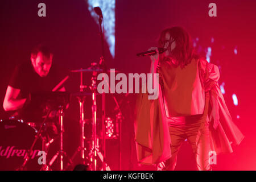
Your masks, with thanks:
[[(145, 85), (142, 90), (145, 90)], [(142, 164), (158, 164), (171, 158), (171, 138), (163, 110), (162, 89), (159, 97), (149, 100), (148, 93), (141, 92), (137, 98), (135, 119), (135, 144), (137, 159)]]

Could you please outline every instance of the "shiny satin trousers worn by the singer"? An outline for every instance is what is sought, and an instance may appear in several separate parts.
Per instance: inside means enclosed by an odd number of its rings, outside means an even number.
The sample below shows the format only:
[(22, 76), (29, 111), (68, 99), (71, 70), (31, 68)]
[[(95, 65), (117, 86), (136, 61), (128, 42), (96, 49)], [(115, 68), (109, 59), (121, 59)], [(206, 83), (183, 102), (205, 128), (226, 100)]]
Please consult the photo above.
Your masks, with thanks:
[(198, 170), (212, 170), (209, 164), (210, 138), (209, 122), (207, 121), (209, 93), (205, 94), (205, 109), (203, 114), (185, 117), (185, 123), (177, 125), (168, 122), (171, 136), (172, 157), (158, 164), (158, 170), (174, 170), (177, 154), (185, 139), (191, 144), (196, 167)]

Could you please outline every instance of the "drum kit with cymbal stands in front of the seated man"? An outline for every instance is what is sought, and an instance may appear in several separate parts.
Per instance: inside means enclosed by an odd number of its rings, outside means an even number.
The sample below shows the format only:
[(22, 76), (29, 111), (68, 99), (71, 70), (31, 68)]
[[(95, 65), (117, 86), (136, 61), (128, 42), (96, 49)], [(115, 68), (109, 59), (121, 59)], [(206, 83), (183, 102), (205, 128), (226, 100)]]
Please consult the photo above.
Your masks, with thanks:
[[(52, 164), (55, 160), (59, 158), (58, 170), (63, 171), (75, 167), (73, 160), (77, 156), (80, 159), (79, 163), (88, 167), (88, 170), (110, 170), (105, 162), (105, 140), (108, 138), (119, 140), (119, 169), (121, 169), (121, 125), (123, 118), (121, 109), (114, 98), (118, 107), (114, 121), (111, 118), (105, 118), (103, 107), (102, 119), (97, 119), (96, 95), (99, 93), (96, 92), (96, 79), (98, 73), (102, 73), (103, 70), (96, 63), (91, 65), (87, 69), (71, 71), (80, 74), (80, 92), (31, 93), (31, 100), (26, 106), (26, 111), (20, 114), (23, 118), (1, 120), (0, 170), (49, 171), (52, 170)], [(89, 86), (84, 84), (84, 73), (92, 73), (92, 84)], [(85, 92), (86, 88), (89, 88), (90, 92)], [(63, 118), (71, 96), (76, 97), (79, 102), (80, 144), (73, 156), (68, 158), (63, 150)], [(92, 97), (92, 119), (85, 119), (86, 97)], [(31, 115), (35, 117), (29, 117)], [(35, 118), (39, 122), (31, 122)], [(52, 123), (54, 124), (51, 125)], [(86, 127), (88, 123), (91, 127)], [(101, 128), (99, 124), (102, 126)], [(55, 140), (59, 141), (59, 148), (56, 154), (49, 158), (49, 147), (52, 143), (56, 143)], [(41, 154), (44, 154), (43, 160)], [(68, 158), (68, 160), (64, 162), (64, 158)]]

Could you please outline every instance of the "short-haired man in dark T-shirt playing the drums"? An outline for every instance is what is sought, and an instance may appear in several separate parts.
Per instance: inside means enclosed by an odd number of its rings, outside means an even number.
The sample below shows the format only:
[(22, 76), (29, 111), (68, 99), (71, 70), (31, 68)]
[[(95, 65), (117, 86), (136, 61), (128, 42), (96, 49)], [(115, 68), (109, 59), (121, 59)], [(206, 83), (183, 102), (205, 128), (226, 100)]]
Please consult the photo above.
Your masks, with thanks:
[[(3, 101), (5, 111), (19, 111), (29, 101), (30, 93), (52, 91), (59, 84), (63, 72), (52, 59), (52, 51), (39, 44), (32, 49), (30, 60), (16, 66)], [(60, 86), (56, 91), (64, 92), (65, 88)]]

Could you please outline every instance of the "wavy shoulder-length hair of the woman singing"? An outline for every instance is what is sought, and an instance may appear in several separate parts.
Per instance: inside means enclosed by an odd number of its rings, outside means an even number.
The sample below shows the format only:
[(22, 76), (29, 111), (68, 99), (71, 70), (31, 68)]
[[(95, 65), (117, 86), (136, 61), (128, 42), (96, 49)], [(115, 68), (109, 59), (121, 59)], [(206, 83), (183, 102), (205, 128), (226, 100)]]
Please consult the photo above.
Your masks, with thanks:
[[(181, 68), (184, 68), (185, 65), (188, 65), (191, 63), (191, 60), (193, 58), (198, 59), (199, 56), (196, 55), (191, 36), (188, 34), (187, 31), (184, 30), (182, 27), (172, 27), (172, 28), (166, 28), (163, 30), (160, 34), (159, 38), (159, 46), (163, 47), (164, 43), (166, 43), (166, 34), (169, 33), (170, 38), (170, 46), (168, 47), (170, 49), (170, 56), (163, 56), (161, 55), (160, 59), (162, 60), (177, 60), (178, 65), (180, 65)], [(171, 51), (171, 41), (175, 41), (176, 47)]]

